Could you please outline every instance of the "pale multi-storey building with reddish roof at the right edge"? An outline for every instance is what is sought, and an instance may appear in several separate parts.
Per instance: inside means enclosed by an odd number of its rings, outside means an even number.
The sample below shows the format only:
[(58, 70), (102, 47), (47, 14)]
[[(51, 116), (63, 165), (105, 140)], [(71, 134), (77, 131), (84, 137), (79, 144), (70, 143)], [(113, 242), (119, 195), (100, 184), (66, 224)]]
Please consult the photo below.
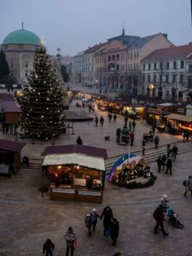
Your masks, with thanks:
[(157, 49), (143, 58), (142, 94), (183, 100), (192, 88), (192, 44)]

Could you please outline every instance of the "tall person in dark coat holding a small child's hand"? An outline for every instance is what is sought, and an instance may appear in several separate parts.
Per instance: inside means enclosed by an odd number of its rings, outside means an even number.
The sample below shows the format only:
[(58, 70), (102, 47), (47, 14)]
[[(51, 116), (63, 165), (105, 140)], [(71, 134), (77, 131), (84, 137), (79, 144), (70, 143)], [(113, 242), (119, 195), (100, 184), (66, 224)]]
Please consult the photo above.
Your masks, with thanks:
[(113, 218), (113, 212), (110, 207), (105, 207), (102, 211), (102, 215), (100, 217), (101, 219), (103, 218), (103, 236), (109, 236), (110, 233), (110, 226), (112, 223)]

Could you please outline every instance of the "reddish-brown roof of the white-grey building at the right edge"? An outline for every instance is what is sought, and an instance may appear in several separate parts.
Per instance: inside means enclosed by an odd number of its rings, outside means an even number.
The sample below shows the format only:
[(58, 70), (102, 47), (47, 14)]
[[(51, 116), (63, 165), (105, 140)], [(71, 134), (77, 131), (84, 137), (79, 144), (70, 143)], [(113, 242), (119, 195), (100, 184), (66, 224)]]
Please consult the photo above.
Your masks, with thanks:
[(177, 57), (186, 58), (192, 52), (192, 44), (173, 46), (165, 49), (155, 49), (142, 61), (158, 61)]

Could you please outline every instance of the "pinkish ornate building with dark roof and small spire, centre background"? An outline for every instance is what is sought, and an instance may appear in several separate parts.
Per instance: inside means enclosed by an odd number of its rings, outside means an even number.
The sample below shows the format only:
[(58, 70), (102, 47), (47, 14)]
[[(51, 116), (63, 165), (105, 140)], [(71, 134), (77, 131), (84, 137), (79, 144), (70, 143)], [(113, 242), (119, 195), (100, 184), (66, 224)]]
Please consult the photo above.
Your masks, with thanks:
[(96, 52), (96, 80), (105, 90), (141, 94), (141, 60), (154, 49), (173, 45), (166, 34), (145, 38), (126, 36), (125, 30), (116, 38), (109, 38), (103, 49)]

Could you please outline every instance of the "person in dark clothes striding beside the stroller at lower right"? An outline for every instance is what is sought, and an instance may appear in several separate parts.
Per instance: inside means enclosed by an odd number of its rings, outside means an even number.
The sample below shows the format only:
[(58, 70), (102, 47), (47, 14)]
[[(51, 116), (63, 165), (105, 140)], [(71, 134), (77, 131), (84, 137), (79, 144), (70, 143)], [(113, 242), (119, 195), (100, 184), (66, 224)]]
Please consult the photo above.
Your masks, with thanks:
[(154, 211), (154, 219), (156, 221), (156, 225), (154, 226), (154, 234), (158, 234), (157, 230), (160, 227), (160, 230), (162, 231), (164, 236), (168, 236), (169, 235), (164, 230), (163, 221), (164, 221), (165, 215), (166, 215), (166, 212), (165, 212), (164, 207), (162, 207), (162, 205), (157, 207), (156, 210)]

